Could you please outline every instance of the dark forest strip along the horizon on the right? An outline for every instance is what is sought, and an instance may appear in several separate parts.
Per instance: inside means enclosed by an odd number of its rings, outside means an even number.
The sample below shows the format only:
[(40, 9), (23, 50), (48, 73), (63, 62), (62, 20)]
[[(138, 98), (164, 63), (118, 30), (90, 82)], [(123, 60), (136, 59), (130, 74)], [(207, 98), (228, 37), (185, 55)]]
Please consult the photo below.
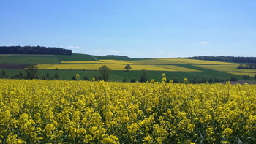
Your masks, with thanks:
[(206, 61), (225, 61), (237, 63), (256, 63), (256, 57), (241, 57), (241, 56), (193, 56), (189, 59), (198, 59)]

